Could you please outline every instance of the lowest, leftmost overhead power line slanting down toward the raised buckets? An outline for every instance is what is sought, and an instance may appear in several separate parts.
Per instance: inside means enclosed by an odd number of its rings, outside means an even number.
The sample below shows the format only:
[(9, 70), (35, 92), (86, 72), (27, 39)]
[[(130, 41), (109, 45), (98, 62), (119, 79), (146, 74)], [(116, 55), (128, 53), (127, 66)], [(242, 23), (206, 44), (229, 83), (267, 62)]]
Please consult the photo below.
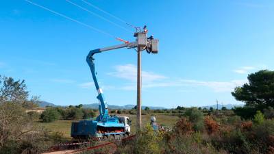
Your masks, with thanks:
[(95, 30), (95, 31), (97, 31), (97, 32), (99, 32), (99, 33), (105, 34), (105, 35), (110, 36), (110, 37), (112, 37), (112, 38), (116, 38), (115, 36), (113, 36), (112, 34), (109, 34), (108, 32), (105, 32), (105, 31), (102, 31), (101, 29), (97, 29), (97, 28), (95, 28), (95, 27), (92, 27), (91, 25), (88, 25), (88, 24), (86, 24), (86, 23), (82, 23), (81, 21), (77, 21), (77, 20), (75, 20), (74, 18), (71, 18), (71, 17), (66, 16), (66, 15), (64, 15), (64, 14), (61, 14), (61, 13), (59, 13), (59, 12), (55, 12), (55, 11), (53, 11), (53, 10), (50, 10), (49, 8), (45, 8), (44, 6), (39, 5), (38, 3), (34, 3), (34, 2), (32, 2), (32, 1), (29, 1), (29, 0), (25, 0), (25, 1), (27, 1), (28, 3), (32, 3), (32, 5), (36, 5), (36, 6), (38, 6), (39, 8), (42, 8), (42, 9), (47, 10), (47, 11), (49, 11), (49, 12), (52, 12), (53, 14), (57, 14), (57, 15), (59, 15), (59, 16), (62, 16), (63, 18), (69, 19), (70, 21), (73, 21), (73, 22), (78, 23), (78, 24), (80, 24), (80, 25), (84, 25), (84, 26), (86, 26), (86, 27), (88, 27), (88, 28), (90, 28), (90, 29), (92, 29), (92, 30)]

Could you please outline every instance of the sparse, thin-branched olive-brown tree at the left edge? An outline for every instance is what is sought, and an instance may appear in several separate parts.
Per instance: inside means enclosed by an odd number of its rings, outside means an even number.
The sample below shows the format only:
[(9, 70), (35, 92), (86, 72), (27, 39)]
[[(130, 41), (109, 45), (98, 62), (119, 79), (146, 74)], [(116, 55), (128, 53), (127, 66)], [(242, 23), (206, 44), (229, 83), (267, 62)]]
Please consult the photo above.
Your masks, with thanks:
[[(49, 138), (27, 114), (29, 103), (25, 81), (0, 77), (0, 153), (42, 153)], [(47, 141), (46, 141), (47, 140)]]

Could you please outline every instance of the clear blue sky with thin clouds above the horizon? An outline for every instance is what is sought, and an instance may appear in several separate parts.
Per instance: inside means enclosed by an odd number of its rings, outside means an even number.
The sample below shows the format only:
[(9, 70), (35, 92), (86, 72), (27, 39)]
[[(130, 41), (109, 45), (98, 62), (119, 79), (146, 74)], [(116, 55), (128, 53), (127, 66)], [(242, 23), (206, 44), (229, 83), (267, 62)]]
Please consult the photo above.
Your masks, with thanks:
[[(86, 55), (123, 43), (112, 36), (134, 41), (125, 23), (147, 25), (160, 40), (158, 54), (142, 52), (142, 105), (241, 104), (234, 88), (274, 68), (272, 0), (29, 1), (81, 23), (27, 1), (1, 1), (0, 75), (25, 79), (31, 95), (56, 105), (98, 102)], [(108, 104), (136, 104), (136, 60), (133, 49), (95, 55)]]

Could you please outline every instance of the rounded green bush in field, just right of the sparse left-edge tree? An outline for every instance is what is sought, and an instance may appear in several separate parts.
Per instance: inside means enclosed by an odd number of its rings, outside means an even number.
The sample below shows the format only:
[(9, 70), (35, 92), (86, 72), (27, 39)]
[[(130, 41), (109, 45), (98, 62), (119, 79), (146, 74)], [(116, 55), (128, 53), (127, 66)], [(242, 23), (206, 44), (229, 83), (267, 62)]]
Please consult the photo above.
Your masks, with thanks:
[(60, 118), (60, 113), (55, 108), (49, 108), (42, 112), (40, 118), (43, 123), (51, 123)]

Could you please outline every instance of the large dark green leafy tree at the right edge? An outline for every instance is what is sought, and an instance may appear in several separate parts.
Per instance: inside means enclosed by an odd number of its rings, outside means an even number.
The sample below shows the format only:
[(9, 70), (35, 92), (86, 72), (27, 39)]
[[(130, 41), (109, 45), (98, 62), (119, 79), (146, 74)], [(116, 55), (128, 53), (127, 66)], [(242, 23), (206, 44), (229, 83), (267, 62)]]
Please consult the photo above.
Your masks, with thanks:
[(248, 83), (236, 87), (232, 96), (247, 106), (274, 107), (274, 71), (260, 70), (248, 75), (247, 79)]

